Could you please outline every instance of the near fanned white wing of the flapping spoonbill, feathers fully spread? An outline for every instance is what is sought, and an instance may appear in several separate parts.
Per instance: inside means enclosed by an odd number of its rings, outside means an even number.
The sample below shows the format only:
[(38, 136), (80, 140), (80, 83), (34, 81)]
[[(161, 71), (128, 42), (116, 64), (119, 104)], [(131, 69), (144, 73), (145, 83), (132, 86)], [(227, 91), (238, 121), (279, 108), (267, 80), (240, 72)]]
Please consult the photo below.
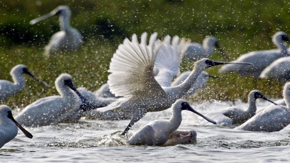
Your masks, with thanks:
[[(157, 34), (154, 35), (156, 39)], [(150, 38), (153, 45), (155, 40)], [(108, 75), (108, 85), (116, 96), (143, 96), (145, 94), (158, 93), (165, 95), (164, 90), (154, 78), (154, 62), (156, 52), (153, 46), (139, 44), (128, 39), (118, 46), (118, 50), (111, 59)]]

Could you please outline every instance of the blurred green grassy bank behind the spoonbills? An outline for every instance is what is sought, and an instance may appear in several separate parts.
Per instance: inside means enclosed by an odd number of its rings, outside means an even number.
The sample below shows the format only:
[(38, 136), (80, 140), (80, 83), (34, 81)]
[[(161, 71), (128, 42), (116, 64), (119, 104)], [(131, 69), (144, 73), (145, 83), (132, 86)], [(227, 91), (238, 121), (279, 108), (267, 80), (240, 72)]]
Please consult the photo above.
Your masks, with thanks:
[[(33, 26), (29, 21), (46, 14), (58, 5), (72, 10), (71, 26), (84, 37), (84, 45), (76, 52), (60, 53), (45, 59), (43, 47), (52, 34), (59, 30), (58, 18), (53, 17)], [(289, 32), (287, 1), (51, 1), (26, 0), (0, 2), (0, 76), (11, 80), (10, 69), (25, 64), (37, 76), (54, 85), (60, 73), (67, 72), (76, 86), (95, 91), (107, 80), (110, 58), (125, 37), (144, 31), (190, 38), (201, 43), (208, 35), (216, 36), (225, 53), (235, 59), (253, 50), (276, 48), (272, 35), (281, 30)], [(211, 59), (225, 60), (218, 52)], [(182, 71), (192, 63), (183, 62)], [(217, 75), (220, 66), (207, 71)], [(191, 101), (235, 100), (247, 101), (252, 89), (259, 89), (267, 97), (282, 96), (282, 84), (268, 79), (239, 77), (237, 74), (218, 75)], [(27, 76), (24, 91), (10, 97), (4, 104), (22, 107), (38, 98), (57, 94), (54, 88), (43, 88)]]

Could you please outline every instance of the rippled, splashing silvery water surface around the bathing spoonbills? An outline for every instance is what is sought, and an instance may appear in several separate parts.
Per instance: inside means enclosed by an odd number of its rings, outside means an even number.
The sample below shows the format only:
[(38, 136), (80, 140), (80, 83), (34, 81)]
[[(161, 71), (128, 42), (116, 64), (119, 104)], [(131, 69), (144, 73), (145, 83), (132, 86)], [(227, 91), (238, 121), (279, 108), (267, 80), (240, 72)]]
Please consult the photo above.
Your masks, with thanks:
[[(192, 104), (201, 113), (216, 112), (230, 102)], [(236, 105), (247, 107), (247, 104)], [(269, 103), (258, 102), (258, 109)], [(27, 128), (0, 149), (2, 162), (290, 162), (290, 127), (279, 132), (250, 132), (234, 126), (197, 126), (192, 112), (183, 111), (179, 130), (194, 129), (196, 144), (174, 146), (129, 146), (126, 139), (146, 123), (168, 119), (171, 110), (147, 113), (127, 137), (118, 136), (129, 120), (82, 119), (79, 123)]]

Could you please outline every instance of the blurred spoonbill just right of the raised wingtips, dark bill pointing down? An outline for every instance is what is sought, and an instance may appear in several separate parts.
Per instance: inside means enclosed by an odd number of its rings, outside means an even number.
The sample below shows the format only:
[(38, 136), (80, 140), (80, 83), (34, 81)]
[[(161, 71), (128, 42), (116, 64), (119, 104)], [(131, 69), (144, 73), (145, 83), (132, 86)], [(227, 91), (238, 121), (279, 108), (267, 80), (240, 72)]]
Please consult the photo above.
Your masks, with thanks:
[(188, 58), (190, 61), (198, 61), (201, 58), (210, 57), (212, 53), (214, 53), (215, 48), (217, 48), (225, 58), (229, 59), (219, 46), (218, 39), (214, 36), (205, 37), (202, 45), (200, 43), (191, 43), (186, 50), (185, 58)]

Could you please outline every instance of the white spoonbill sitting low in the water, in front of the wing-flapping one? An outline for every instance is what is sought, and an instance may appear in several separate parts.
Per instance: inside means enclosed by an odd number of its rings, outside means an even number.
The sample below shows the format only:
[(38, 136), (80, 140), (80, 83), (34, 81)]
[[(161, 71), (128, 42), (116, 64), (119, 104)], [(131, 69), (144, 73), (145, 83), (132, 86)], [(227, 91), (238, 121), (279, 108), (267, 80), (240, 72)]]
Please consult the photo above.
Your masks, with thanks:
[[(184, 135), (184, 131), (177, 131), (178, 127), (182, 121), (182, 110), (188, 110), (197, 115), (203, 117), (210, 123), (215, 124), (214, 120), (211, 120), (201, 113), (195, 111), (185, 100), (177, 100), (174, 104), (172, 104), (172, 115), (169, 120), (154, 120), (144, 126), (142, 129), (134, 133), (129, 140), (127, 141), (130, 145), (163, 145), (169, 139), (176, 139), (180, 137), (179, 133)], [(174, 134), (172, 135), (172, 133)], [(191, 139), (188, 141), (188, 137), (186, 139), (178, 139), (179, 142), (171, 140), (171, 142), (176, 143), (188, 143), (192, 141), (196, 141), (196, 132), (188, 132), (193, 133), (190, 137)], [(192, 140), (195, 138), (195, 140)]]

